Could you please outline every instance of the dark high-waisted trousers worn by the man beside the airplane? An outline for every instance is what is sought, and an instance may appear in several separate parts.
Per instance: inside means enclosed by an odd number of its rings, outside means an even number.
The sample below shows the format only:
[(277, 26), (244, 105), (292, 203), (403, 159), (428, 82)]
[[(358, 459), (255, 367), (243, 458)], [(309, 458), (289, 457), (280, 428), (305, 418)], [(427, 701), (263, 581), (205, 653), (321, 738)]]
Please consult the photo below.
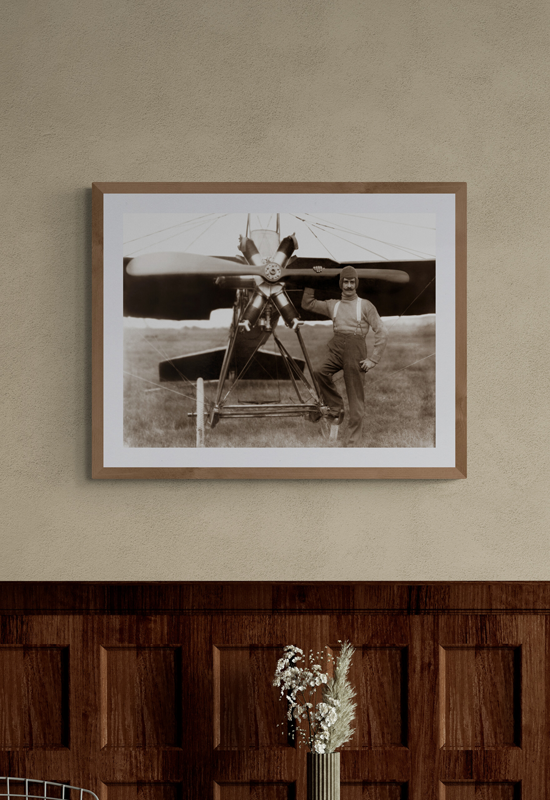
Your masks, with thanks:
[(348, 447), (360, 447), (365, 416), (365, 373), (359, 366), (367, 357), (365, 336), (354, 333), (335, 333), (328, 343), (328, 353), (315, 377), (323, 400), (335, 416), (344, 407), (344, 401), (332, 381), (332, 376), (344, 370), (344, 382), (349, 403)]

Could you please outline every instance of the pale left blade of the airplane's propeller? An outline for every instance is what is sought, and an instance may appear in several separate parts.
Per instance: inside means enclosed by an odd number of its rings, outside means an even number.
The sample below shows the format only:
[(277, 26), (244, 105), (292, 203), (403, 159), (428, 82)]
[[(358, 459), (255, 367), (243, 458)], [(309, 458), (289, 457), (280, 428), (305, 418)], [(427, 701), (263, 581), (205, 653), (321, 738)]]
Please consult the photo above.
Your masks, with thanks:
[(129, 275), (262, 275), (262, 267), (195, 253), (147, 253), (132, 258)]

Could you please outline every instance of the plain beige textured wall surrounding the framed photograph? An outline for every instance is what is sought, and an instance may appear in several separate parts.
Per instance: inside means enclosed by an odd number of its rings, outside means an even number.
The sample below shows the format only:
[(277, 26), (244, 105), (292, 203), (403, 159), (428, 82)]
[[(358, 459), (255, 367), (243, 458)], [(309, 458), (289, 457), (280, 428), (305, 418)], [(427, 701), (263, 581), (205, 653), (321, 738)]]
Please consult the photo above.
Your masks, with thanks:
[[(549, 579), (547, 0), (4, 0), (3, 580)], [(92, 181), (467, 181), (465, 481), (91, 481)]]

